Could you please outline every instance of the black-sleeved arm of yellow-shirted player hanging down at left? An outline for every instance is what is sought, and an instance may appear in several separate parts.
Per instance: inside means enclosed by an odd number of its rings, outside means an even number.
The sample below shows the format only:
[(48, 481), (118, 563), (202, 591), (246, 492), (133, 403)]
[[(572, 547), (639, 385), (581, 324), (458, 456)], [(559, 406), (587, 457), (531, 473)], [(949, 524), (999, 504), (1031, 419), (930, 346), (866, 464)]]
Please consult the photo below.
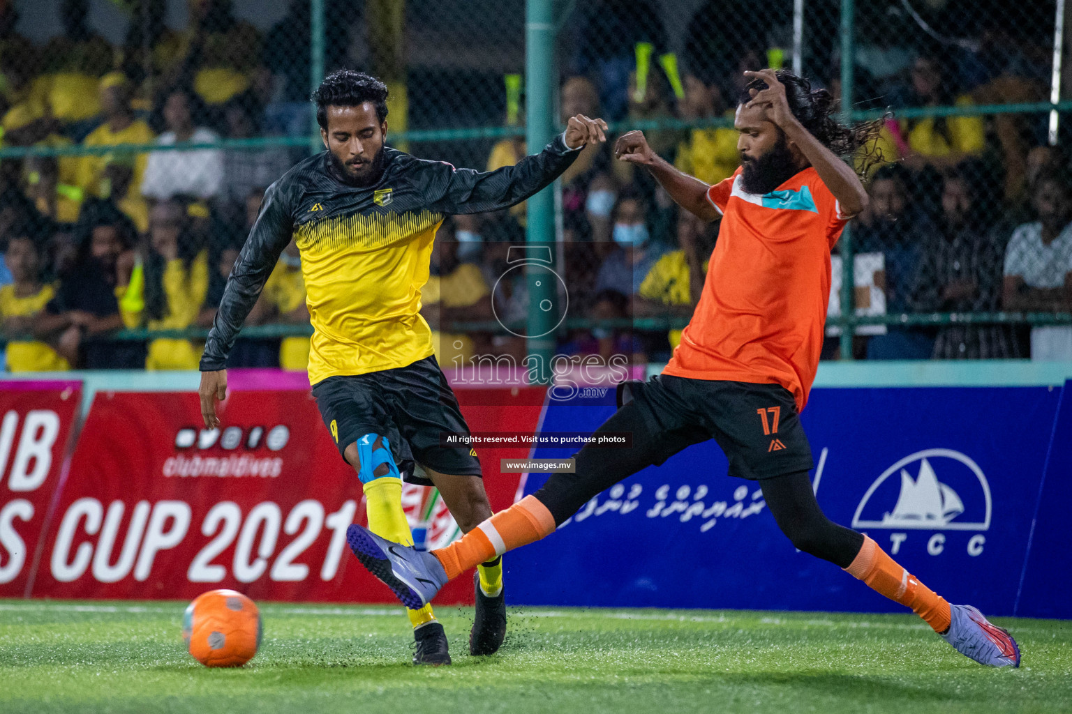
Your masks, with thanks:
[(227, 278), (220, 309), (212, 320), (212, 329), (205, 340), (205, 353), (200, 360), (203, 374), (198, 392), (202, 416), (205, 419), (205, 426), (210, 429), (220, 424), (215, 414), (215, 400), (223, 399), (226, 394), (227, 375), (224, 367), (227, 355), (235, 346), (242, 322), (256, 304), (260, 290), (279, 261), (280, 254), (291, 242), (294, 228), (291, 215), (285, 191), (276, 182), (265, 192), (257, 221)]

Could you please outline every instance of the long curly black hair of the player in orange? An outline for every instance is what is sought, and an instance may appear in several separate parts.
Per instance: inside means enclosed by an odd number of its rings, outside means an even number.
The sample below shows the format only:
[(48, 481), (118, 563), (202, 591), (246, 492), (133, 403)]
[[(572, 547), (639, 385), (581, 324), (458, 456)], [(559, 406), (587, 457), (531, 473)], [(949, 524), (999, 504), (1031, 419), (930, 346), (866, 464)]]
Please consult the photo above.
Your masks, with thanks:
[[(796, 117), (796, 121), (838, 156), (854, 157), (857, 174), (861, 179), (867, 176), (873, 166), (883, 162), (882, 150), (878, 147), (878, 134), (885, 117), (858, 124), (842, 124), (833, 116), (833, 94), (824, 89), (812, 89), (810, 81), (787, 70), (776, 70), (774, 76), (785, 86), (789, 110)], [(761, 92), (766, 89), (766, 82), (762, 79), (749, 81), (738, 97), (738, 103), (747, 104), (751, 100), (748, 92), (753, 89)]]

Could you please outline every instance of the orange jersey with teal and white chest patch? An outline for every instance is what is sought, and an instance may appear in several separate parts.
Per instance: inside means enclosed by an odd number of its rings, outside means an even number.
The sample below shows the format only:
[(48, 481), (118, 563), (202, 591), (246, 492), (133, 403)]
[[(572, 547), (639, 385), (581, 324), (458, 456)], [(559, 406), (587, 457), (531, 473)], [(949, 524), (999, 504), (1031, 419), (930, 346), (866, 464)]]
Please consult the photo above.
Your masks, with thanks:
[(808, 167), (762, 196), (741, 169), (708, 189), (723, 214), (703, 294), (664, 374), (780, 384), (804, 409), (822, 350), (830, 249), (846, 219)]

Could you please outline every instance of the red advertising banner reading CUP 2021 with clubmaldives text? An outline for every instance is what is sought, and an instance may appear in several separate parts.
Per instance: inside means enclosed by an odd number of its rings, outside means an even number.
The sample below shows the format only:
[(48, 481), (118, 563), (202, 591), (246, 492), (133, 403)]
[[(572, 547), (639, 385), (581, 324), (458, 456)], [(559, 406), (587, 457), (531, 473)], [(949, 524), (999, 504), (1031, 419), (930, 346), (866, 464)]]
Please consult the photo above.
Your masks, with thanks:
[[(463, 407), (471, 427), (534, 430), (539, 408), (511, 407), (512, 391), (500, 407), (486, 397)], [(33, 595), (193, 598), (233, 588), (254, 599), (394, 602), (346, 546), (346, 528), (364, 522), (361, 486), (309, 392), (233, 392), (222, 420), (202, 428), (196, 394), (98, 394)], [(481, 459), (494, 508), (518, 486), (498, 458), (524, 455)], [(407, 487), (405, 500), (430, 545), (457, 536), (432, 489)], [(459, 578), (436, 602), (471, 603), (472, 588)]]

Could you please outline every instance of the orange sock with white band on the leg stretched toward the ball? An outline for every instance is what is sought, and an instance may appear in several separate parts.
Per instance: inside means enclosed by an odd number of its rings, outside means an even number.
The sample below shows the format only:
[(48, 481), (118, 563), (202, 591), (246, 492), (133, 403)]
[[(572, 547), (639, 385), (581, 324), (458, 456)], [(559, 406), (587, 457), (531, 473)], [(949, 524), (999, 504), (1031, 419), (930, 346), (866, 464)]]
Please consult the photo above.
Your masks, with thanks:
[(500, 511), (459, 541), (433, 550), (451, 580), (471, 567), (507, 550), (535, 543), (554, 532), (554, 517), (535, 497), (526, 496), (506, 511)]

